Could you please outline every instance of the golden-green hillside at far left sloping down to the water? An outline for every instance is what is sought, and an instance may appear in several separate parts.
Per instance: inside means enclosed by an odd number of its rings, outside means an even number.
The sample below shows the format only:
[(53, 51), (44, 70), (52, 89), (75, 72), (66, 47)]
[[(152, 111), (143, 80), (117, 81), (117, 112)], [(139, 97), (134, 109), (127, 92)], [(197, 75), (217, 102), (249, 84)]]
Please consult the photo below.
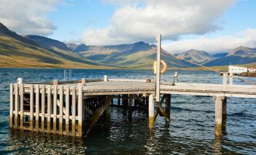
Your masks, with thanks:
[[(41, 44), (42, 45), (42, 44)], [(104, 68), (72, 51), (48, 50), (0, 23), (0, 67)]]

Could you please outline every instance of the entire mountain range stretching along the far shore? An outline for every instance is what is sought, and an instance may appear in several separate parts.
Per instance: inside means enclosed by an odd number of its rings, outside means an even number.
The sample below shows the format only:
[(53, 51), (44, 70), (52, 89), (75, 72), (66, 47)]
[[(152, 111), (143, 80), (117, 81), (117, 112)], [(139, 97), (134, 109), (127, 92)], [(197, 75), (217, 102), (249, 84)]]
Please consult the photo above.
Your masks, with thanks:
[[(202, 65), (230, 65), (256, 62), (256, 48), (237, 47), (229, 53), (211, 55), (202, 50), (175, 54), (162, 53), (169, 68), (194, 67), (188, 59)], [(65, 44), (39, 35), (18, 35), (0, 23), (0, 67), (31, 68), (152, 68), (156, 45), (134, 44), (91, 46)]]

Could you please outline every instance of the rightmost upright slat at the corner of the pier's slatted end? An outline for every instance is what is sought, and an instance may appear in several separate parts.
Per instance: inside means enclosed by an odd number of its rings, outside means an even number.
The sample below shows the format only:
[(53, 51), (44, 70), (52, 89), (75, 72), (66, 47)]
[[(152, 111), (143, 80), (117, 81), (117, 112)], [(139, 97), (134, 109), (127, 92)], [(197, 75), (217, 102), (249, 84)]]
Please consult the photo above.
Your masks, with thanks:
[(85, 115), (85, 111), (84, 111), (84, 104), (83, 104), (83, 96), (82, 96), (82, 86), (79, 86), (79, 137), (82, 137), (83, 134), (83, 123), (84, 123), (84, 115)]

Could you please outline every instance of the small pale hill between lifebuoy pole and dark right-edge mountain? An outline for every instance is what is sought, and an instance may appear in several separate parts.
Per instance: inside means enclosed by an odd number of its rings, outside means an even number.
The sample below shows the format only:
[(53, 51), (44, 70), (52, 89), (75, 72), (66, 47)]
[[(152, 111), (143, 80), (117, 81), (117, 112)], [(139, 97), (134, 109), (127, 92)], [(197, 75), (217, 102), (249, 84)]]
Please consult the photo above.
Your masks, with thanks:
[(187, 52), (180, 53), (177, 57), (199, 63), (208, 62), (209, 60), (214, 59), (213, 56), (203, 50), (189, 50)]

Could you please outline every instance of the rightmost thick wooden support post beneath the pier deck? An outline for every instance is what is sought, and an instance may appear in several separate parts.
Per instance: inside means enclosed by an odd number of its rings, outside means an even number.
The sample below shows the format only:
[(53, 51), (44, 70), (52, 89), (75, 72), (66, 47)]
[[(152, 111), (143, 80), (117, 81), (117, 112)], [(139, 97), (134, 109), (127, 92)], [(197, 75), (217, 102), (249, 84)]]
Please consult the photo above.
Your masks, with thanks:
[(220, 137), (226, 129), (227, 123), (227, 97), (215, 97), (215, 136)]

